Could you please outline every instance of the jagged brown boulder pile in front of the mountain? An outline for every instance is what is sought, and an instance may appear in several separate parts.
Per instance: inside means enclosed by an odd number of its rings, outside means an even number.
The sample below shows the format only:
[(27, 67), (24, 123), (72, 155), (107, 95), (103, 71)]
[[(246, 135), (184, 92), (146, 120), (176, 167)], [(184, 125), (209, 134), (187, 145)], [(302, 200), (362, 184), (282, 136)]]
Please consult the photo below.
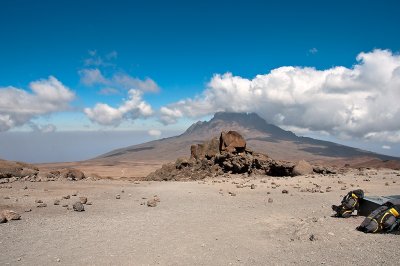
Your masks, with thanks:
[[(146, 180), (199, 180), (229, 174), (261, 174), (271, 176), (294, 176), (309, 174), (313, 167), (305, 162), (275, 161), (266, 154), (246, 149), (246, 141), (235, 132), (222, 132), (202, 144), (192, 145), (190, 158), (178, 158), (175, 163), (164, 164), (149, 174)], [(318, 166), (320, 173), (334, 173), (332, 169)]]

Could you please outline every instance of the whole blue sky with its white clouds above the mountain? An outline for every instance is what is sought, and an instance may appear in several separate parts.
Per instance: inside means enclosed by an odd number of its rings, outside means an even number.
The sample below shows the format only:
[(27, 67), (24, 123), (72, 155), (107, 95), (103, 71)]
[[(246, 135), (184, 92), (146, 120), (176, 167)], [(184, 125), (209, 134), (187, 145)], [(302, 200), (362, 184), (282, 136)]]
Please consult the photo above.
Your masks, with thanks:
[[(399, 8), (398, 1), (1, 1), (0, 130), (159, 137), (214, 111), (255, 111), (299, 135), (400, 155)], [(388, 80), (367, 78), (376, 72)], [(293, 84), (274, 86), (288, 77)], [(33, 110), (25, 110), (29, 101)]]

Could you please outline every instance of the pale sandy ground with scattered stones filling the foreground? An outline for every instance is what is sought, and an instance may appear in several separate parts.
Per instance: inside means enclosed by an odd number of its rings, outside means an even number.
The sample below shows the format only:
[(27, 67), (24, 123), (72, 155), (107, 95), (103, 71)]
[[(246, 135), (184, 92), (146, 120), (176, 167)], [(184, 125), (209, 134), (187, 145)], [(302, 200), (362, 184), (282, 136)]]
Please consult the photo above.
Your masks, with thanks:
[[(355, 228), (363, 217), (333, 218), (330, 206), (357, 187), (367, 195), (400, 194), (399, 175), (354, 170), (205, 182), (3, 184), (0, 209), (14, 209), (22, 219), (0, 224), (0, 265), (398, 265), (399, 235), (360, 233)], [(316, 184), (332, 191), (301, 192)], [(61, 204), (71, 207), (86, 196), (93, 205), (84, 212), (53, 205), (74, 191), (78, 196)], [(154, 195), (158, 206), (141, 205)], [(36, 199), (48, 206), (37, 208)]]

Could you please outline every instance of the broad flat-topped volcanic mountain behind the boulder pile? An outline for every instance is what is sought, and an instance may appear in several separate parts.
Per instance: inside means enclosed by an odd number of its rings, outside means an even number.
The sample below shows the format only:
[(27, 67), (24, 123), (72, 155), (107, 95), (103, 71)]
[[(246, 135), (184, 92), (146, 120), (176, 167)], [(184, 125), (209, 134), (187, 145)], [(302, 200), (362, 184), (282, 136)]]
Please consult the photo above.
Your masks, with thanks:
[(219, 112), (210, 121), (199, 121), (183, 134), (140, 145), (117, 149), (103, 154), (93, 161), (102, 163), (135, 161), (174, 161), (190, 155), (190, 146), (206, 139), (219, 136), (221, 131), (238, 131), (247, 141), (247, 146), (257, 152), (268, 154), (278, 160), (354, 166), (372, 164), (385, 166), (399, 164), (399, 158), (380, 155), (328, 141), (296, 136), (275, 125), (268, 124), (255, 113)]

